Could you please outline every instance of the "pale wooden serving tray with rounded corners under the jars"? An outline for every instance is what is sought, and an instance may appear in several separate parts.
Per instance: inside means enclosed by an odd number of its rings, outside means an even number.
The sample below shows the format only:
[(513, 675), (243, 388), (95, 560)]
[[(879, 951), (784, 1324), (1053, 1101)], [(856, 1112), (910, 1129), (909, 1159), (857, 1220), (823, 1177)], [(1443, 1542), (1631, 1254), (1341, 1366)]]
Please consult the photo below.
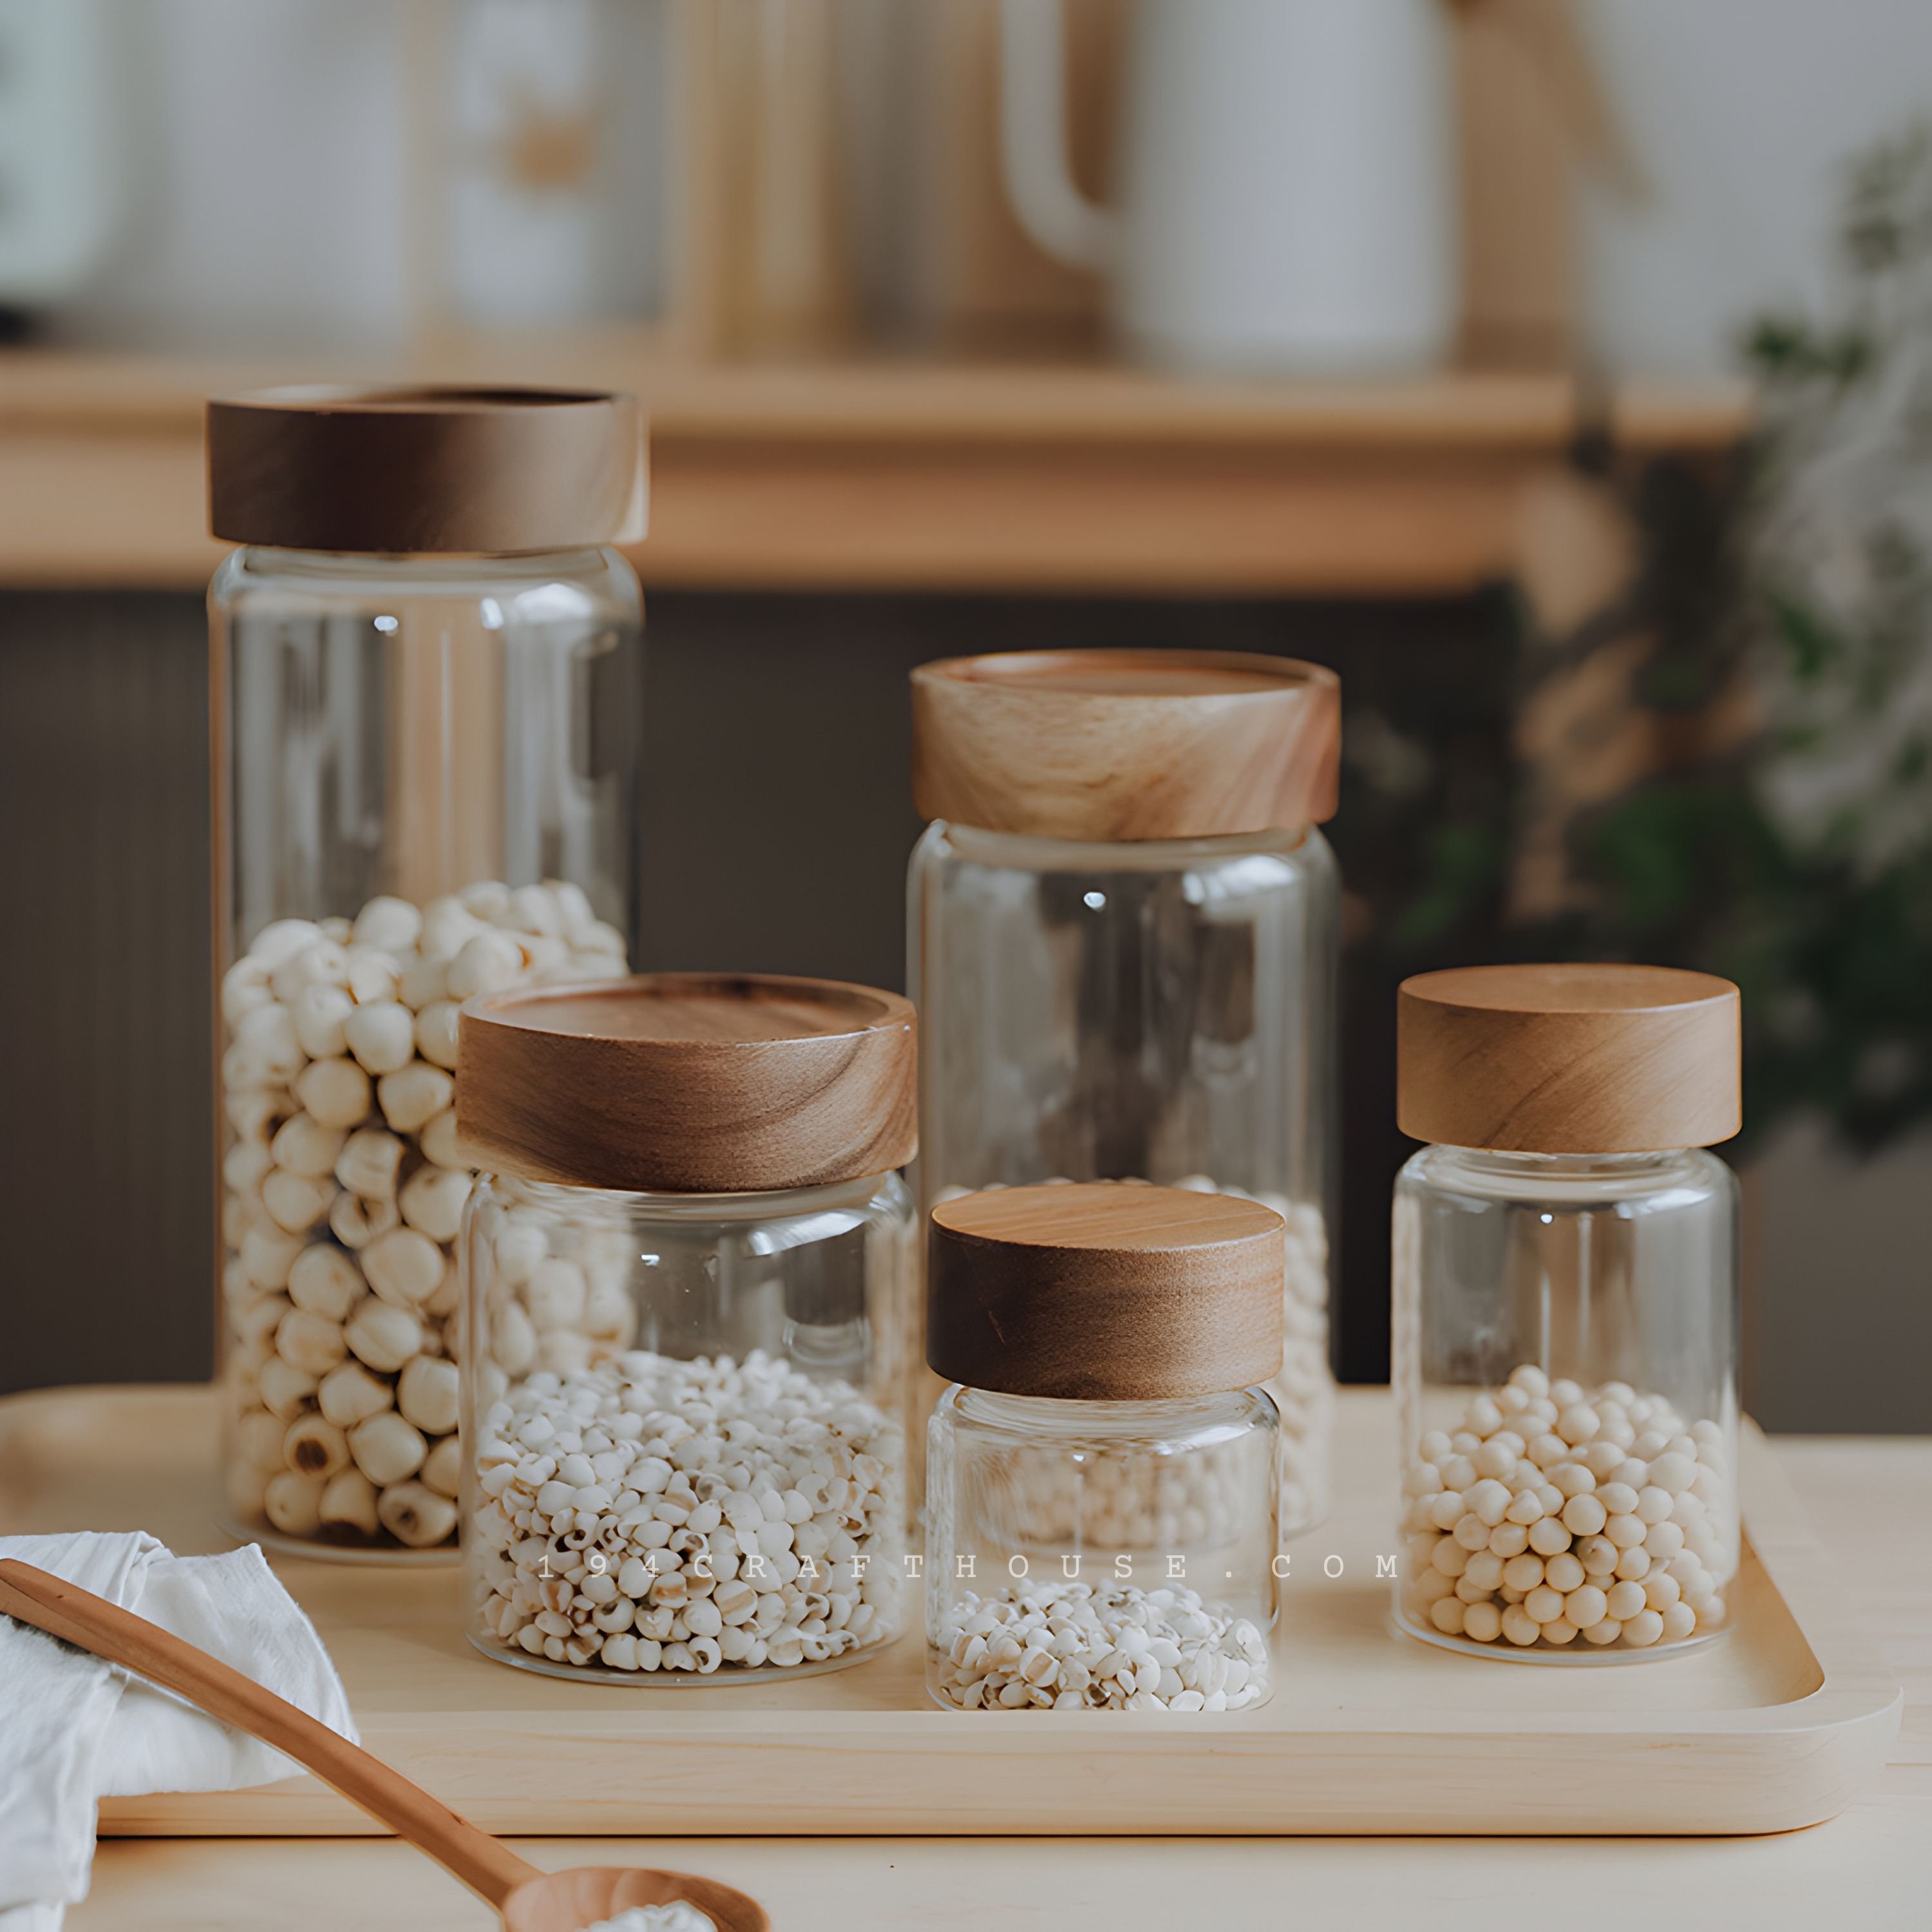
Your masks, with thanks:
[[(214, 1526), (207, 1389), (0, 1401), (0, 1534)], [(327, 1640), (363, 1743), (493, 1832), (520, 1833), (1747, 1833), (1816, 1824), (1872, 1779), (1901, 1692), (1764, 1437), (1747, 1428), (1731, 1636), (1584, 1667), (1434, 1650), (1389, 1623), (1385, 1391), (1345, 1391), (1339, 1495), (1291, 1546), (1275, 1696), (1236, 1716), (958, 1714), (918, 1636), (790, 1685), (570, 1685), (477, 1656), (460, 1578), (276, 1559)], [(1341, 1575), (1327, 1575), (1335, 1571)], [(309, 1777), (110, 1799), (122, 1835), (363, 1833)]]

